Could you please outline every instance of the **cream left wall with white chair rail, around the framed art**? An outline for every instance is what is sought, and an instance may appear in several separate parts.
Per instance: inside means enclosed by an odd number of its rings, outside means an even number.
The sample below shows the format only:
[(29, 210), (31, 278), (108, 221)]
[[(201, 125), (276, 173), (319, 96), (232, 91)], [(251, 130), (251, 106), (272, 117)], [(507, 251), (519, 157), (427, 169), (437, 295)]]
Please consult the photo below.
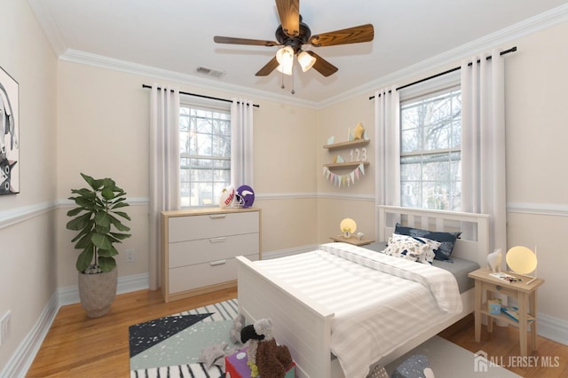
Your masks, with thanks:
[(25, 1), (3, 2), (0, 45), (0, 67), (20, 84), (20, 193), (0, 196), (0, 317), (12, 314), (2, 371), (57, 288), (57, 59)]

